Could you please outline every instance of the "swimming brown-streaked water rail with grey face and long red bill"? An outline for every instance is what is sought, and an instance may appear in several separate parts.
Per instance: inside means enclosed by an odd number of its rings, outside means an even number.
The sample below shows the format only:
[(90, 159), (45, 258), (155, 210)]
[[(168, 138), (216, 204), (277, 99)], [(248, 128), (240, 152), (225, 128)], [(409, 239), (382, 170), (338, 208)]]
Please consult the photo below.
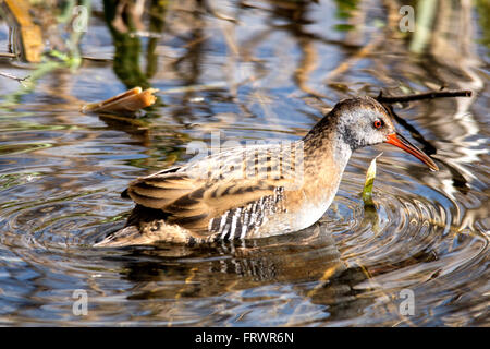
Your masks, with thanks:
[[(372, 127), (379, 120), (382, 128)], [(136, 203), (126, 227), (96, 245), (199, 243), (307, 228), (330, 206), (352, 152), (394, 144), (393, 134), (382, 105), (369, 97), (345, 99), (303, 140), (226, 149), (133, 181), (122, 194)], [(397, 146), (437, 169), (402, 140)]]

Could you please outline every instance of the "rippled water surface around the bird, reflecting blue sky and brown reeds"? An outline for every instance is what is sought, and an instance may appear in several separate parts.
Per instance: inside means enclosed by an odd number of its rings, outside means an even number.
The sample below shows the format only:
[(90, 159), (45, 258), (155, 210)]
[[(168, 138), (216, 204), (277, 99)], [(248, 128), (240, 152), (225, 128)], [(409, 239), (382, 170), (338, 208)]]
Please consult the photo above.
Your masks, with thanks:
[[(74, 71), (1, 59), (1, 71), (38, 80), (0, 80), (0, 323), (489, 325), (487, 4), (429, 2), (415, 8), (426, 31), (403, 33), (394, 1), (147, 1), (143, 12), (95, 1)], [(137, 119), (78, 112), (135, 85), (160, 88)], [(393, 106), (437, 173), (393, 147), (367, 148), (304, 231), (91, 248), (124, 224), (126, 184), (189, 159), (192, 141), (294, 140), (346, 96), (441, 86), (475, 93)], [(376, 207), (364, 207), (381, 149)], [(85, 316), (72, 312), (76, 289), (88, 293)]]

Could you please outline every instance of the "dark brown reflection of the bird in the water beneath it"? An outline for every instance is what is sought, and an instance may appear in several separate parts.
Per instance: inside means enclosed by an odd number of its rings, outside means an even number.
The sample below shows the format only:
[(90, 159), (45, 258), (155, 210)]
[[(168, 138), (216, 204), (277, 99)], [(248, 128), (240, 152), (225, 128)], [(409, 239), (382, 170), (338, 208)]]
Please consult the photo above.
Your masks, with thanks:
[(330, 316), (348, 316), (345, 306), (352, 304), (354, 311), (357, 302), (370, 301), (356, 297), (360, 291), (353, 287), (366, 275), (359, 267), (345, 266), (327, 222), (250, 241), (126, 251), (118, 260), (123, 263), (122, 277), (134, 282), (131, 300), (196, 300), (292, 284), (298, 297), (328, 304)]

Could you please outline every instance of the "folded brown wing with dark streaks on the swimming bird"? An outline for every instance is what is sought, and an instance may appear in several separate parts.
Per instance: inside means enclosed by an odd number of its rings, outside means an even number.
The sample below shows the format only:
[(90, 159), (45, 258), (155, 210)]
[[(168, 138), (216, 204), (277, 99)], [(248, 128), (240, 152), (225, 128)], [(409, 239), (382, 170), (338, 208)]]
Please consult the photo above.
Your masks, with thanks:
[(221, 155), (222, 164), (206, 158), (177, 170), (137, 179), (130, 184), (127, 194), (142, 206), (161, 209), (168, 215), (168, 222), (197, 236), (208, 236), (212, 233), (208, 231), (210, 219), (272, 196), (275, 189), (287, 188), (296, 179), (292, 176), (293, 167), (281, 165), (286, 160), (277, 161), (268, 154), (260, 164), (252, 161), (256, 170), (245, 166), (249, 173), (243, 173), (244, 168), (240, 166), (243, 154), (235, 152)]

